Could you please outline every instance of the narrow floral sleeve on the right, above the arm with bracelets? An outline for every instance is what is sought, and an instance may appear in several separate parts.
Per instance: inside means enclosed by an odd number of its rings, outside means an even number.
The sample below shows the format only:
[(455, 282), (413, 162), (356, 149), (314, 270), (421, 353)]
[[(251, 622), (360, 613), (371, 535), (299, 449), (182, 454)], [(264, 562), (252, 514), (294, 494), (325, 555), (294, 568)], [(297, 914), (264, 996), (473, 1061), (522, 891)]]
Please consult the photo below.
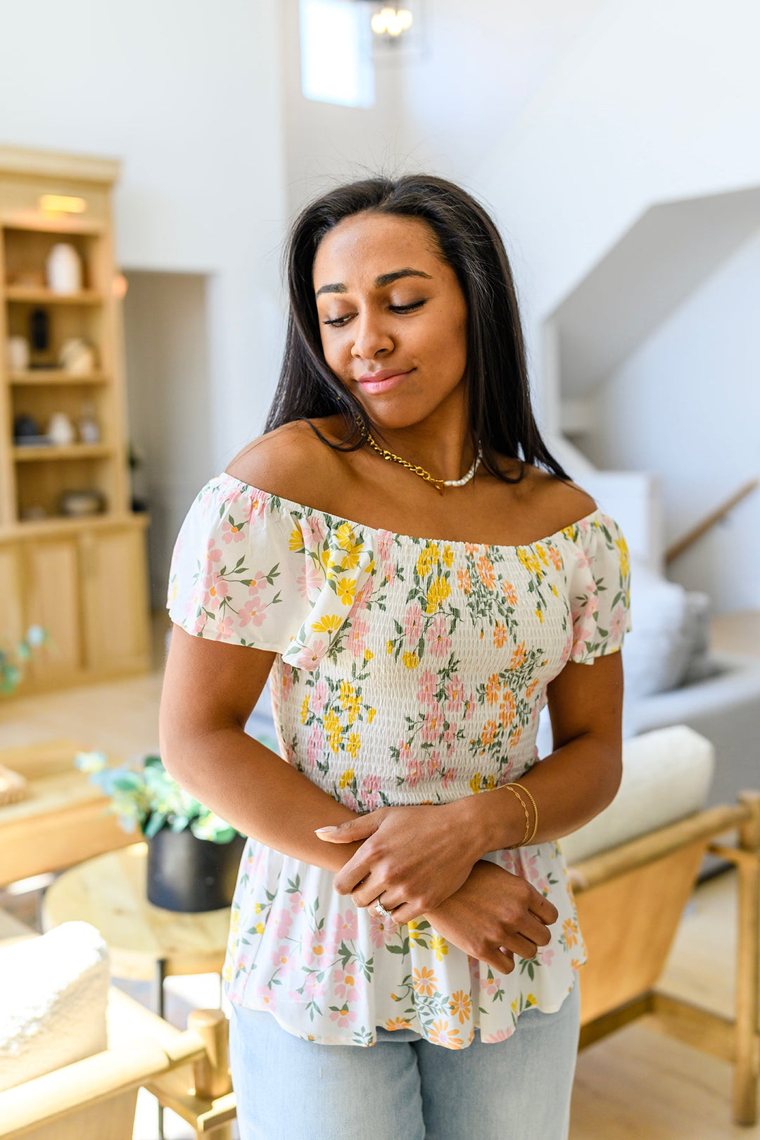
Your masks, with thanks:
[(574, 549), (570, 660), (593, 665), (595, 658), (620, 650), (631, 629), (628, 546), (614, 519), (600, 511), (569, 531)]

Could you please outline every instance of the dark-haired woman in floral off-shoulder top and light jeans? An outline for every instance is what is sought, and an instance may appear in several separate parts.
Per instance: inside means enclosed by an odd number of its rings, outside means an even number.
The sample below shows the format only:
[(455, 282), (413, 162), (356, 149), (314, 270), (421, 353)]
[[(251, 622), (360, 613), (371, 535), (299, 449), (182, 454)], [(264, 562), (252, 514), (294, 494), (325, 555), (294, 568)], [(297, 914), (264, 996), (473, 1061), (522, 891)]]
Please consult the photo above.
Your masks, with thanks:
[[(585, 953), (556, 840), (620, 780), (624, 539), (541, 440), (468, 194), (335, 189), (288, 277), (265, 433), (177, 540), (161, 710), (170, 772), (251, 837), (240, 1134), (559, 1140)], [(287, 764), (244, 733), (270, 675)]]

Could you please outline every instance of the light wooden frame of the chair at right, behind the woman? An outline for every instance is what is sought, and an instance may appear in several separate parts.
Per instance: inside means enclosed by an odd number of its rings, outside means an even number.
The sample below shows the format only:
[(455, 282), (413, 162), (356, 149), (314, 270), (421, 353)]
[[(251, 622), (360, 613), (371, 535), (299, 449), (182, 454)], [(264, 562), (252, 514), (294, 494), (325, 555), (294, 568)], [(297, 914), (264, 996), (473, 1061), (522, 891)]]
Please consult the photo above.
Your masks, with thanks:
[[(737, 832), (737, 842), (724, 837)], [(656, 988), (706, 852), (736, 866), (738, 931), (734, 1017)], [(581, 1048), (643, 1015), (734, 1065), (733, 1117), (758, 1119), (760, 1077), (760, 792), (742, 792), (571, 868), (589, 960), (581, 972)]]

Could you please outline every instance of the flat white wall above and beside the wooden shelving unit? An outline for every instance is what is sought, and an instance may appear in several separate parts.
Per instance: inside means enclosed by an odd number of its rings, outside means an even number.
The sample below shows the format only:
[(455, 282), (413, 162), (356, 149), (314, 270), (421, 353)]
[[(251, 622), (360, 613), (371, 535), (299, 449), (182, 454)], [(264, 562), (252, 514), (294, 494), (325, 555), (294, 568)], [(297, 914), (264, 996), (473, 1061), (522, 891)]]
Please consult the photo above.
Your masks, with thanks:
[(280, 349), (277, 0), (0, 0), (0, 141), (121, 158), (125, 269), (210, 275), (211, 463), (259, 425)]

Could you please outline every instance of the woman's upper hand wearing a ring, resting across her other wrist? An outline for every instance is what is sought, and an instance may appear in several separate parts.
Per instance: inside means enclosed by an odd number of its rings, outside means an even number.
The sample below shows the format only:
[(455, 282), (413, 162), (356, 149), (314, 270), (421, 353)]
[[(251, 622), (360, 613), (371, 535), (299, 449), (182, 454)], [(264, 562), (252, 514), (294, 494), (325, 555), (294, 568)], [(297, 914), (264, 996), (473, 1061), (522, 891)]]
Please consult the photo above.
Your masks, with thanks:
[(434, 910), (466, 881), (484, 854), (474, 830), (455, 800), (381, 807), (317, 834), (333, 844), (365, 840), (335, 876), (335, 889), (357, 906), (381, 898), (402, 923)]

